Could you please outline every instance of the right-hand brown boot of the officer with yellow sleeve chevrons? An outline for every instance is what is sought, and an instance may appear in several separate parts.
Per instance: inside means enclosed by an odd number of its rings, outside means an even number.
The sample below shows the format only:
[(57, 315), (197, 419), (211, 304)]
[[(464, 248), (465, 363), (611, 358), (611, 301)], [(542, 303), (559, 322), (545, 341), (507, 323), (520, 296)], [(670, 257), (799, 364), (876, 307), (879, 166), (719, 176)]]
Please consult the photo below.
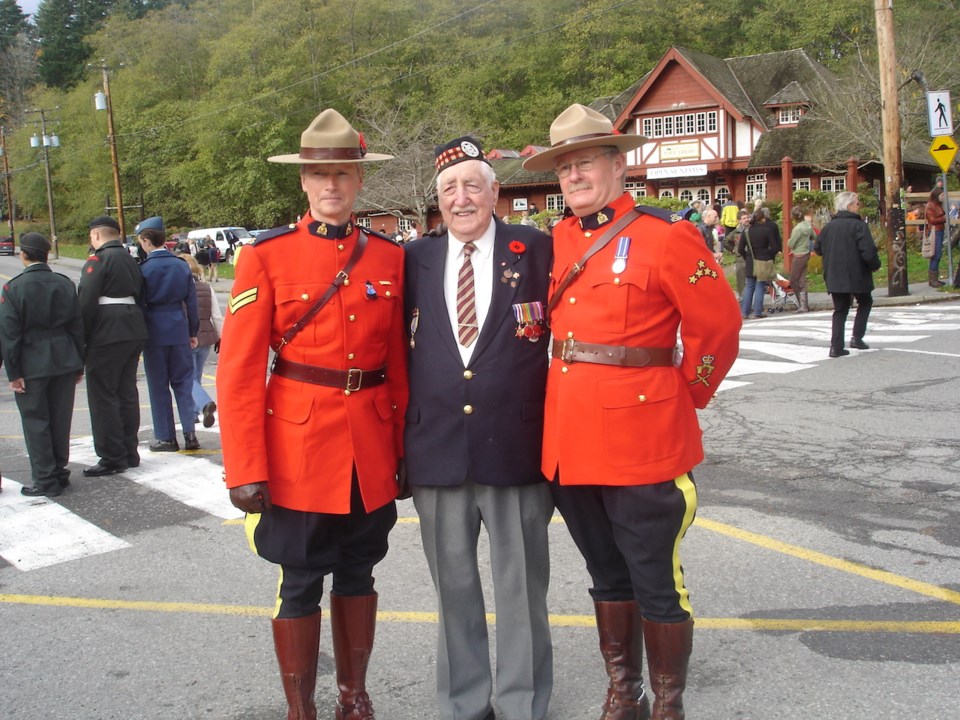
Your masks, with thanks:
[(377, 627), (377, 594), (341, 597), (331, 593), (330, 621), (340, 691), (336, 720), (373, 720), (366, 681)]

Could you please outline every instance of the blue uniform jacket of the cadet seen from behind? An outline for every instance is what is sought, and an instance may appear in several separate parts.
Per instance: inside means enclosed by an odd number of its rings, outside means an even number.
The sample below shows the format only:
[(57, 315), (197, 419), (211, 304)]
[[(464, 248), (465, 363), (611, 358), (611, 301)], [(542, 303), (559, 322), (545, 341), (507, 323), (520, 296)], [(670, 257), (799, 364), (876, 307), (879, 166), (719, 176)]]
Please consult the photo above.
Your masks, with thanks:
[(200, 329), (190, 266), (169, 250), (155, 250), (141, 263), (140, 272), (147, 345), (189, 345)]

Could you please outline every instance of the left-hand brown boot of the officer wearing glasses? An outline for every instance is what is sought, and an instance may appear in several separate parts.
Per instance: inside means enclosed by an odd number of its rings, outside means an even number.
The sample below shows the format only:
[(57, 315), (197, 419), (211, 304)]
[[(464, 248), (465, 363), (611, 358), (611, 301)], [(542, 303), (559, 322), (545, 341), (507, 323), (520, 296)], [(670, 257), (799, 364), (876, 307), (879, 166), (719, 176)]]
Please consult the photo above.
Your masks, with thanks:
[(633, 600), (595, 602), (600, 654), (610, 676), (600, 720), (648, 720), (650, 701), (643, 689), (643, 628)]

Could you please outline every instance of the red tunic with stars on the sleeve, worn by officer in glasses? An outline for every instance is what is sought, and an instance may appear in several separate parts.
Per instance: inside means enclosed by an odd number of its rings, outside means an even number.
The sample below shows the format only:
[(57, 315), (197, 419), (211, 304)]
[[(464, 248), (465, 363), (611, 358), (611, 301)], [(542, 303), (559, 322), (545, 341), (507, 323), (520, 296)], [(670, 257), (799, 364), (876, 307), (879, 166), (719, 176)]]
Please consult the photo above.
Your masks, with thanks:
[[(630, 212), (624, 194), (611, 207)], [(554, 228), (551, 296), (587, 248), (576, 217)], [(614, 272), (618, 237), (631, 238)], [(543, 473), (564, 485), (645, 485), (672, 480), (703, 459), (695, 408), (703, 408), (737, 357), (740, 309), (696, 227), (638, 215), (594, 255), (552, 315), (554, 338), (669, 348), (678, 367), (621, 368), (554, 358), (547, 376)]]

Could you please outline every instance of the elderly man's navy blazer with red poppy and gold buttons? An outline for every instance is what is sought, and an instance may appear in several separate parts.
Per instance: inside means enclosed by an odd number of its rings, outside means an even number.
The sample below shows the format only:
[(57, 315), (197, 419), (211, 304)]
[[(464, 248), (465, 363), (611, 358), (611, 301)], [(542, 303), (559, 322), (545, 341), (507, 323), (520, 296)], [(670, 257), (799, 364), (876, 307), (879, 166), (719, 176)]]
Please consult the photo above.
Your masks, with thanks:
[[(550, 332), (517, 337), (514, 303), (544, 309), (553, 263), (551, 238), (496, 223), (493, 293), (467, 367), (443, 294), (447, 234), (404, 246), (405, 317), (410, 336), (410, 402), (404, 429), (411, 485), (527, 485), (540, 472)], [(519, 242), (523, 249), (511, 243)], [(503, 282), (504, 271), (516, 277)]]

